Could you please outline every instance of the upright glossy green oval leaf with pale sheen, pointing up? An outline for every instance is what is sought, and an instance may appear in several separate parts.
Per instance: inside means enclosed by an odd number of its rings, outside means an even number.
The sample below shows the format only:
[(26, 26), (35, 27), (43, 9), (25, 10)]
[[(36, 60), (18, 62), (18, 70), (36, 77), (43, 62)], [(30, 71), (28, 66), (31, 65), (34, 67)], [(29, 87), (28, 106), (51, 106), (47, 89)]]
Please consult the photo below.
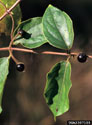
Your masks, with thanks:
[(72, 47), (74, 32), (70, 17), (56, 7), (49, 5), (43, 15), (43, 32), (49, 44), (68, 50)]

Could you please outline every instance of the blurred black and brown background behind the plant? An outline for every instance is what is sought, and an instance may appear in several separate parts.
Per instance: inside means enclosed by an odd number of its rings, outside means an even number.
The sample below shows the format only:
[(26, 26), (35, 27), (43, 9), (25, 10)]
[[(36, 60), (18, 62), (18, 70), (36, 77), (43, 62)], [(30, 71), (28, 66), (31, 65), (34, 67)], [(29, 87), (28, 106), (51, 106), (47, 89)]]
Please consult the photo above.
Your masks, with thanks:
[[(23, 0), (20, 4), (22, 20), (42, 16), (49, 4), (65, 11), (74, 26), (74, 45), (72, 52), (85, 52), (92, 55), (92, 0)], [(7, 46), (10, 38), (0, 35), (0, 47)], [(61, 51), (49, 45), (36, 49)], [(0, 57), (8, 55), (0, 52)], [(72, 88), (70, 90), (70, 109), (57, 117), (53, 115), (43, 97), (46, 73), (61, 60), (62, 56), (35, 55), (15, 52), (15, 57), (25, 64), (25, 72), (19, 73), (11, 60), (8, 79), (3, 95), (3, 112), (0, 125), (66, 125), (67, 120), (92, 120), (92, 60), (81, 64), (76, 57), (71, 58)]]

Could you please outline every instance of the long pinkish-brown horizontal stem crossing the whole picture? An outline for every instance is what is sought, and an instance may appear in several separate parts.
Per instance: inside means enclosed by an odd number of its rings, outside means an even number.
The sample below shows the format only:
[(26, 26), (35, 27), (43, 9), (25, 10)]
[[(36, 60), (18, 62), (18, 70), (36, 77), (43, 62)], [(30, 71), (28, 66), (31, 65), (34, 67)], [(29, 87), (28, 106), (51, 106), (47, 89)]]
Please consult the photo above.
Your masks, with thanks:
[[(5, 47), (5, 48), (0, 48), (0, 51), (9, 51), (9, 47)], [(27, 53), (34, 53), (34, 54), (46, 54), (46, 55), (60, 55), (60, 56), (77, 56), (79, 53), (61, 53), (61, 52), (53, 52), (53, 51), (43, 51), (43, 52), (35, 52), (34, 50), (31, 49), (24, 49), (24, 48), (14, 48), (11, 47), (12, 51), (20, 51), (20, 52), (27, 52)], [(92, 58), (92, 55), (88, 55), (89, 58)]]

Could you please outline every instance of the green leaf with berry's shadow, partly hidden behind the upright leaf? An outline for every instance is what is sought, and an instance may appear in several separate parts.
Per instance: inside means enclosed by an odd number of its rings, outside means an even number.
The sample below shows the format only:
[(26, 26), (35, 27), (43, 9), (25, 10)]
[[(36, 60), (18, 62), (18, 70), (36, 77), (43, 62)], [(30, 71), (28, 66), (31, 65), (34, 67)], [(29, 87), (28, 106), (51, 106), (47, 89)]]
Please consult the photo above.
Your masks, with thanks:
[(15, 34), (18, 30), (24, 30), (29, 34), (28, 38), (19, 36), (14, 45), (22, 44), (26, 48), (37, 48), (47, 42), (42, 32), (42, 18), (36, 17), (31, 18), (22, 22), (16, 29)]

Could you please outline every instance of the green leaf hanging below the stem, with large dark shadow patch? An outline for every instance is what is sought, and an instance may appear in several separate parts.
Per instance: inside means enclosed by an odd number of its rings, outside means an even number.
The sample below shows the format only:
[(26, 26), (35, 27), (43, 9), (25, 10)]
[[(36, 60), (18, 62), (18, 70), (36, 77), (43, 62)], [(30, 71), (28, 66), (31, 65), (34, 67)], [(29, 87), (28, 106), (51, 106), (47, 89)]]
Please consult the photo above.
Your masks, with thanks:
[(55, 117), (69, 109), (68, 94), (72, 86), (70, 76), (71, 65), (68, 61), (59, 62), (47, 74), (44, 96)]

